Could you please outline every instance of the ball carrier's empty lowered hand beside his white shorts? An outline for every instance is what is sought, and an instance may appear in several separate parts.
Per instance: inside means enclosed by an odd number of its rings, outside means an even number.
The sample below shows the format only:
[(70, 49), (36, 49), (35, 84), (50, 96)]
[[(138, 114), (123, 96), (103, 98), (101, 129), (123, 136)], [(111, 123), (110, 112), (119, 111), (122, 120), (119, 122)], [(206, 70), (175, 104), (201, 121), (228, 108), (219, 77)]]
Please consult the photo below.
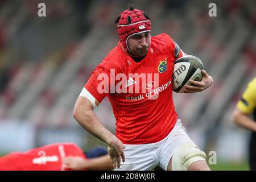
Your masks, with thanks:
[(123, 151), (125, 146), (123, 146), (122, 142), (114, 138), (112, 143), (108, 146), (108, 152), (110, 156), (110, 162), (113, 164), (114, 169), (120, 168), (121, 158), (122, 162), (125, 162), (125, 152)]

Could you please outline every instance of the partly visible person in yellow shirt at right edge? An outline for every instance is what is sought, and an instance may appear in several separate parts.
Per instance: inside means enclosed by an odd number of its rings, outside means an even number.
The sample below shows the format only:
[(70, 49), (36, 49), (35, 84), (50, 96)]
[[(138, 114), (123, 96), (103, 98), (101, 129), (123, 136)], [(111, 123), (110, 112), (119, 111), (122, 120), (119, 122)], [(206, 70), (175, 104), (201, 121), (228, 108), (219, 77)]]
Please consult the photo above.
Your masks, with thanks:
[[(251, 119), (253, 115), (253, 119)], [(249, 82), (242, 98), (233, 112), (233, 121), (237, 125), (251, 130), (249, 162), (250, 169), (256, 170), (256, 77)]]

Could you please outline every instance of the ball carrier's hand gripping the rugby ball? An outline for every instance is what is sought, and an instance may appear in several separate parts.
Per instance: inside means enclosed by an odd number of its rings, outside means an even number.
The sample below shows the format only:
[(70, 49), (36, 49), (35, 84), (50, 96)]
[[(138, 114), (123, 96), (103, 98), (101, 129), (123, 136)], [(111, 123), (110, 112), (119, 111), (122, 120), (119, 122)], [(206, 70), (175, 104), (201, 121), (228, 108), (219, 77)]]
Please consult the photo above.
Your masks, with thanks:
[(184, 93), (195, 93), (202, 92), (207, 89), (210, 85), (212, 85), (212, 78), (208, 75), (208, 73), (202, 69), (201, 71), (203, 78), (201, 81), (189, 80), (191, 85), (184, 86)]

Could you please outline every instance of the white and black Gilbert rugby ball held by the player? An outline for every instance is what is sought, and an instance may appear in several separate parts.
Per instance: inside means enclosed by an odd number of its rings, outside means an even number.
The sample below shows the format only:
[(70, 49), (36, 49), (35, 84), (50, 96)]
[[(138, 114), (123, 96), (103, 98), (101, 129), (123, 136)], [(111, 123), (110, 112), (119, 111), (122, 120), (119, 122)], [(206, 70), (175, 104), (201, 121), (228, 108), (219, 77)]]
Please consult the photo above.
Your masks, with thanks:
[(184, 86), (191, 85), (189, 80), (201, 81), (203, 77), (201, 69), (204, 69), (204, 65), (196, 56), (187, 55), (177, 59), (172, 73), (172, 90), (183, 93)]

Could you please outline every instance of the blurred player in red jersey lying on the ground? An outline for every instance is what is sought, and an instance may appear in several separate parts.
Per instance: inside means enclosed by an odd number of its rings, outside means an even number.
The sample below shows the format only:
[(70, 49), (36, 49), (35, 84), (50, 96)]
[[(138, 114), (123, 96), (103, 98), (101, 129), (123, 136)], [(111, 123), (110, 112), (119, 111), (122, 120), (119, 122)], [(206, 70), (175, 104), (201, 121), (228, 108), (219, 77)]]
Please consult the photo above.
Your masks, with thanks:
[(55, 143), (0, 157), (0, 171), (110, 170), (108, 151), (96, 147), (83, 152), (74, 143)]

